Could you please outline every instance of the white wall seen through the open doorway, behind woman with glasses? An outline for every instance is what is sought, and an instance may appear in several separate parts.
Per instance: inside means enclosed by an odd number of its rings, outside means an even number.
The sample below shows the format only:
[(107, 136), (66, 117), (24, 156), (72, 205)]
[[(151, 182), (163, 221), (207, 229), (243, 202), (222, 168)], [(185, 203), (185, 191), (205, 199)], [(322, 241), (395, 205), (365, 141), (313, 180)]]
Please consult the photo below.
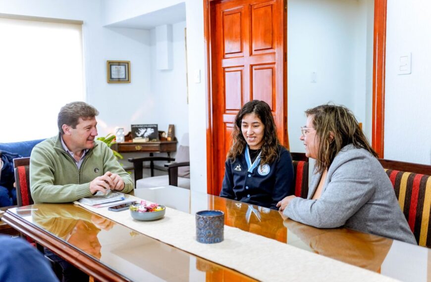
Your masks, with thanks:
[[(373, 4), (373, 0), (288, 1), (287, 103), (292, 152), (304, 152), (299, 140), (304, 111), (327, 102), (350, 108), (371, 136), (371, 113), (367, 115), (371, 103), (366, 103), (366, 97), (372, 88), (369, 14), (373, 16)], [(313, 72), (316, 83), (312, 83)]]

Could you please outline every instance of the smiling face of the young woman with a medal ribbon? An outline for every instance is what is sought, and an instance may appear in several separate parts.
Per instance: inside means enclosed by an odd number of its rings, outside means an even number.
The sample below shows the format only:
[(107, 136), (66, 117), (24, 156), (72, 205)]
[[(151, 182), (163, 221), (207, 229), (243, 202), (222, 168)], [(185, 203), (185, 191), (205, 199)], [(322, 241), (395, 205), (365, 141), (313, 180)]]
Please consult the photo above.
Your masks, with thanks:
[(262, 147), (265, 126), (256, 114), (244, 115), (241, 120), (241, 132), (250, 149), (257, 150)]

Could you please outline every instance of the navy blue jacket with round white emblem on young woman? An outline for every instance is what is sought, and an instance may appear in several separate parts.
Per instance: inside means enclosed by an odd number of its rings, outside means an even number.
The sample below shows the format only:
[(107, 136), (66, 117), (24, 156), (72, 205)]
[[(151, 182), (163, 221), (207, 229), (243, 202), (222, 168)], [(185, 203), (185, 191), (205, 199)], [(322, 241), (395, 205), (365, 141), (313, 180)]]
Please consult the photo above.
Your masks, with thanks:
[(277, 202), (294, 193), (292, 158), (286, 148), (278, 148), (279, 158), (271, 164), (259, 164), (251, 172), (246, 149), (234, 162), (227, 159), (220, 197), (278, 209)]

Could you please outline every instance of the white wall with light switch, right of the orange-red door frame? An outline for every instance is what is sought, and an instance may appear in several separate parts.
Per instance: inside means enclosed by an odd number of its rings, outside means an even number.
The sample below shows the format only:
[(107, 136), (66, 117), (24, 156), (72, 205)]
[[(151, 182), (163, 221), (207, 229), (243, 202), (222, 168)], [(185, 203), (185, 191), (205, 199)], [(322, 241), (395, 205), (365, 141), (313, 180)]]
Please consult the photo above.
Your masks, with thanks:
[[(384, 158), (431, 164), (431, 2), (387, 2)], [(412, 53), (412, 73), (398, 75)]]

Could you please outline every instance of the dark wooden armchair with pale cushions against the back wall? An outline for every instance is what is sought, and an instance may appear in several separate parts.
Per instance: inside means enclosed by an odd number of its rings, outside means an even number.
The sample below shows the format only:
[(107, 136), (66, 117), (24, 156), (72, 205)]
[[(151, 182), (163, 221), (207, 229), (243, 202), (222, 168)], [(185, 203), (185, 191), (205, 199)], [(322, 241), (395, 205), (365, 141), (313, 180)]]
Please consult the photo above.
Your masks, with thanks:
[[(175, 159), (169, 157), (150, 156), (143, 158), (129, 158), (128, 161), (133, 163), (133, 169), (135, 172), (135, 188), (152, 188), (172, 185), (190, 189), (190, 157), (188, 134), (184, 134), (182, 137)], [(176, 162), (167, 163), (164, 165), (167, 168), (168, 175), (148, 177), (143, 179), (142, 163), (144, 161), (150, 162), (152, 175), (154, 170), (154, 161)]]

